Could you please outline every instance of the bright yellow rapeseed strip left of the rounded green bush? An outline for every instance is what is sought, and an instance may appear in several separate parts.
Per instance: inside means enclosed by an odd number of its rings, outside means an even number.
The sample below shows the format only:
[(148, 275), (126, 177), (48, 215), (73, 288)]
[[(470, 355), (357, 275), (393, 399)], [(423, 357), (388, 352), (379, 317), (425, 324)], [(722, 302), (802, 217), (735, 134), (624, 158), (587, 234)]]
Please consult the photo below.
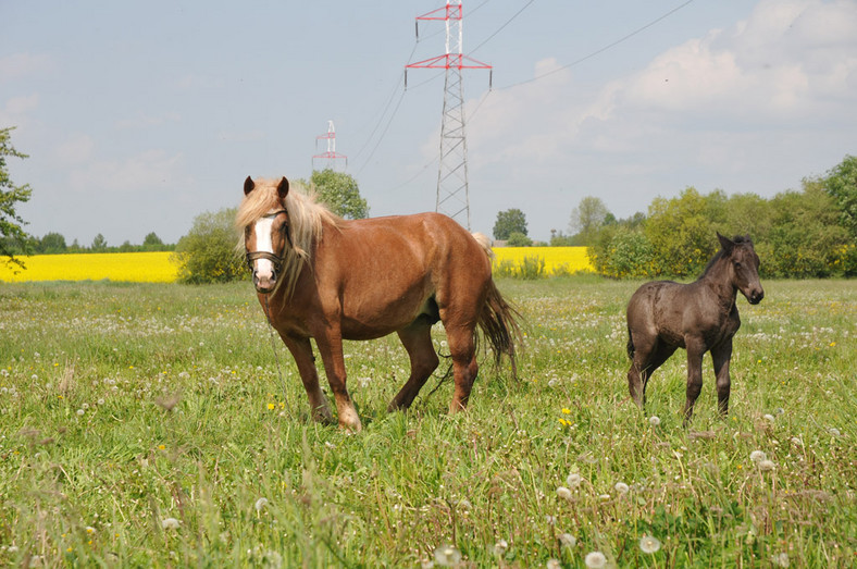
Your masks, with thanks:
[(92, 252), (35, 255), (21, 258), (26, 269), (14, 274), (15, 265), (0, 263), (0, 281), (126, 281), (134, 283), (172, 283), (176, 265), (170, 251)]

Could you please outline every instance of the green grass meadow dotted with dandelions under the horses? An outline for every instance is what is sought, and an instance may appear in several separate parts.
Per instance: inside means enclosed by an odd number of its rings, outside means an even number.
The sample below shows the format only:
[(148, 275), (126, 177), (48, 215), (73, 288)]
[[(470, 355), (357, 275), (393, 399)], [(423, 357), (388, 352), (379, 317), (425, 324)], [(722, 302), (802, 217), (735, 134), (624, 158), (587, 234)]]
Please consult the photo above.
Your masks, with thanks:
[(309, 420), (247, 283), (1, 285), (0, 566), (857, 564), (857, 285), (740, 297), (731, 415), (707, 358), (686, 430), (683, 351), (628, 397), (638, 284), (500, 281), (521, 378), (484, 356), (456, 416), (446, 361), (390, 415), (403, 349), (348, 343), (357, 435)]

